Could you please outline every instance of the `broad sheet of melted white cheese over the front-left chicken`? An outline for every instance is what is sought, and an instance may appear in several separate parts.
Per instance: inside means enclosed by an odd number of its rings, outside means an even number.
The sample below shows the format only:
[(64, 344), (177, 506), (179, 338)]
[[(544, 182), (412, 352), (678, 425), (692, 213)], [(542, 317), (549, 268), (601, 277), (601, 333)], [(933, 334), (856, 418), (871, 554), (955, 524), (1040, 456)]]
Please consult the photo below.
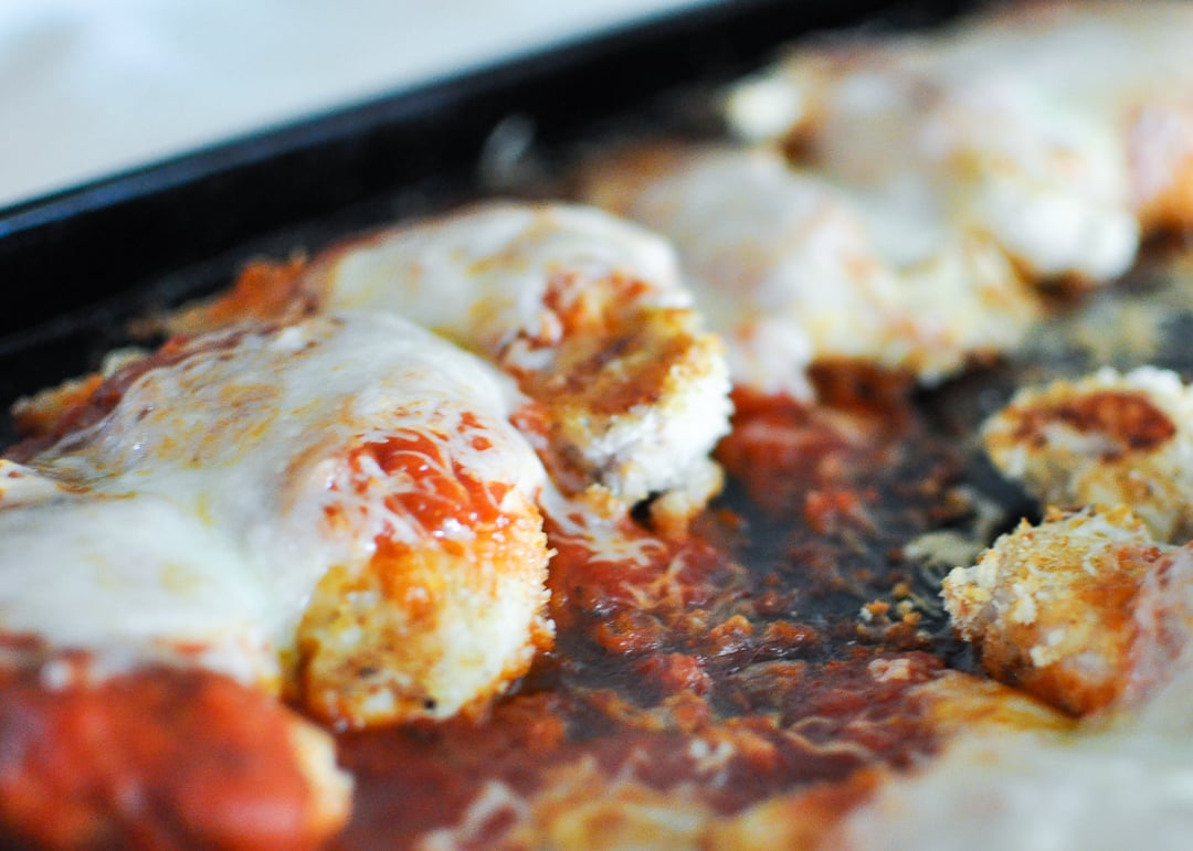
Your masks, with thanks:
[[(95, 426), (0, 471), (0, 634), (39, 645), (10, 663), (82, 650), (97, 675), (166, 660), (277, 688), (329, 569), (369, 564), (379, 541), (435, 543), (385, 501), (409, 482), (341, 486), (347, 454), (428, 436), (472, 480), (499, 483), (497, 510), (525, 514), (544, 472), (507, 422), (518, 398), (396, 317), (192, 341)], [(528, 608), (493, 647), (499, 671), (545, 629), (540, 548)]]

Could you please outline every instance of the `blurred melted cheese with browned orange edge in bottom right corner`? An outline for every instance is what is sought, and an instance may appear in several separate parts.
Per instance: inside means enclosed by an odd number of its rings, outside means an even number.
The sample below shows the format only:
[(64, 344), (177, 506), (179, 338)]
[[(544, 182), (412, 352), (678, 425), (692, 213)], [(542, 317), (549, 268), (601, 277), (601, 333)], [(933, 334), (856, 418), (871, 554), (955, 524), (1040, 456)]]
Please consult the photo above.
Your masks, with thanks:
[[(1180, 557), (1188, 635), (1193, 558)], [(826, 847), (1077, 851), (1145, 845), (1177, 851), (1193, 830), (1193, 652), (1149, 702), (1113, 719), (1006, 715), (988, 681), (952, 675), (922, 689), (950, 740), (910, 771), (889, 774)], [(944, 688), (940, 688), (944, 687)], [(1001, 687), (996, 687), (1001, 689)], [(987, 692), (987, 694), (983, 694)], [(1002, 722), (990, 726), (997, 714)]]

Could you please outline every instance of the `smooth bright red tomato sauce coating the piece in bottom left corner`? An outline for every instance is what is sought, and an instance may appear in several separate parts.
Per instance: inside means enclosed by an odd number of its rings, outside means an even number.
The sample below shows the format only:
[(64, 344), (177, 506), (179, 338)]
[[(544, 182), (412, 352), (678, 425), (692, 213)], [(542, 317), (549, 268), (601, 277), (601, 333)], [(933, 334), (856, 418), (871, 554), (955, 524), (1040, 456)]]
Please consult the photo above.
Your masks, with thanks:
[[(0, 682), (0, 825), (56, 847), (314, 847), (292, 713), (205, 671)], [(0, 833), (4, 830), (0, 827)]]

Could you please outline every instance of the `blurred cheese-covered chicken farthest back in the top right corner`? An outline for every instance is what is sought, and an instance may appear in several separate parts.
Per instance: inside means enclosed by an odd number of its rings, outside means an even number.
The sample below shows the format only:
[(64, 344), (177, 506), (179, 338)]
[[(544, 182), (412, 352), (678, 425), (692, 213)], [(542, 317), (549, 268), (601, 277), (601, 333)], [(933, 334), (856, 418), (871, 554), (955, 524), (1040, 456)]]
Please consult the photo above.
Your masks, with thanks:
[(1030, 2), (928, 36), (805, 45), (728, 114), (828, 178), (1100, 282), (1193, 223), (1193, 7)]

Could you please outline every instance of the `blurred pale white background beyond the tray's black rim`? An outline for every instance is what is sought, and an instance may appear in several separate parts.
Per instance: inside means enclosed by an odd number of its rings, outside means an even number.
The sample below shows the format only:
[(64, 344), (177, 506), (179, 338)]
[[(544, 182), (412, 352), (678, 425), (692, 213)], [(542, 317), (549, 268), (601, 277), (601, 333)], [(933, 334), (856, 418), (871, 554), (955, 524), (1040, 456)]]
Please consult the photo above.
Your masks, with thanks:
[(711, 0), (0, 0), (0, 207)]

